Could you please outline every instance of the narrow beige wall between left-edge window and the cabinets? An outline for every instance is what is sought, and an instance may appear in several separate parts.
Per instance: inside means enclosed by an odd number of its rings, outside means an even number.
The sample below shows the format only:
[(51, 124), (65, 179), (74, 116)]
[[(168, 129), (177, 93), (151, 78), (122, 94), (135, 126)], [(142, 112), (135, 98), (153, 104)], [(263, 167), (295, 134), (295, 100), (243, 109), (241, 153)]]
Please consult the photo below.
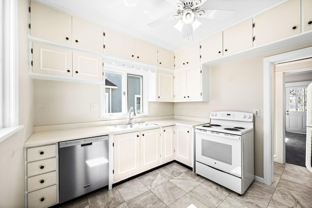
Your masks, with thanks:
[(33, 130), (33, 81), (29, 76), (28, 0), (19, 0), (19, 121), (24, 128), (0, 143), (0, 207), (25, 205), (24, 142)]

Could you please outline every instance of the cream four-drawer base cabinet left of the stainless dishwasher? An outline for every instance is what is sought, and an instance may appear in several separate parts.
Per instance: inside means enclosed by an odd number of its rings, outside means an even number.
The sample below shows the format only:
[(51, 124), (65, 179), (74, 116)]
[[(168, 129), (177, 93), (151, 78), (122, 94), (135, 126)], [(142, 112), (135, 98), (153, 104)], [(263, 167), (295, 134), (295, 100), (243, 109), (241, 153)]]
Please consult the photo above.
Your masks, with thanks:
[(26, 206), (45, 208), (58, 203), (57, 144), (25, 149)]

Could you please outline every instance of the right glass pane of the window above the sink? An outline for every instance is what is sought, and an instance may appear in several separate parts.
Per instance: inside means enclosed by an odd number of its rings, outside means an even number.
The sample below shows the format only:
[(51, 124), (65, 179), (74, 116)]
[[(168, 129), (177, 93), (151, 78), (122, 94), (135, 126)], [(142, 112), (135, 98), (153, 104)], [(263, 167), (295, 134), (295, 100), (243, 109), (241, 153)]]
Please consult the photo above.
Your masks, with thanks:
[(128, 110), (133, 107), (136, 113), (142, 113), (142, 76), (128, 75)]

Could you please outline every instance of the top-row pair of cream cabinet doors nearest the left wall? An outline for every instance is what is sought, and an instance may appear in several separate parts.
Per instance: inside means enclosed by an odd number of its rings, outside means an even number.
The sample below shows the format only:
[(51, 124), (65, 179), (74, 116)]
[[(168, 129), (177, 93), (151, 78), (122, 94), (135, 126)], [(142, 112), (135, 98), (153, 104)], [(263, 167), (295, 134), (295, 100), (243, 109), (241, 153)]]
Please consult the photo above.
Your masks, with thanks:
[(102, 26), (34, 1), (31, 1), (30, 9), (30, 35), (103, 53)]

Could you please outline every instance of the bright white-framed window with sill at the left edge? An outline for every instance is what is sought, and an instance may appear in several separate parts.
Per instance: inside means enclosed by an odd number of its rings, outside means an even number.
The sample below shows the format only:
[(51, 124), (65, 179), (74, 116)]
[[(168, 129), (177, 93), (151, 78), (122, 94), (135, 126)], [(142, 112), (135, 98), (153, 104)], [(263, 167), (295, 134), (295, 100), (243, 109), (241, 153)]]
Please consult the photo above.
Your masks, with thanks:
[(0, 0), (0, 142), (19, 131), (17, 0)]

